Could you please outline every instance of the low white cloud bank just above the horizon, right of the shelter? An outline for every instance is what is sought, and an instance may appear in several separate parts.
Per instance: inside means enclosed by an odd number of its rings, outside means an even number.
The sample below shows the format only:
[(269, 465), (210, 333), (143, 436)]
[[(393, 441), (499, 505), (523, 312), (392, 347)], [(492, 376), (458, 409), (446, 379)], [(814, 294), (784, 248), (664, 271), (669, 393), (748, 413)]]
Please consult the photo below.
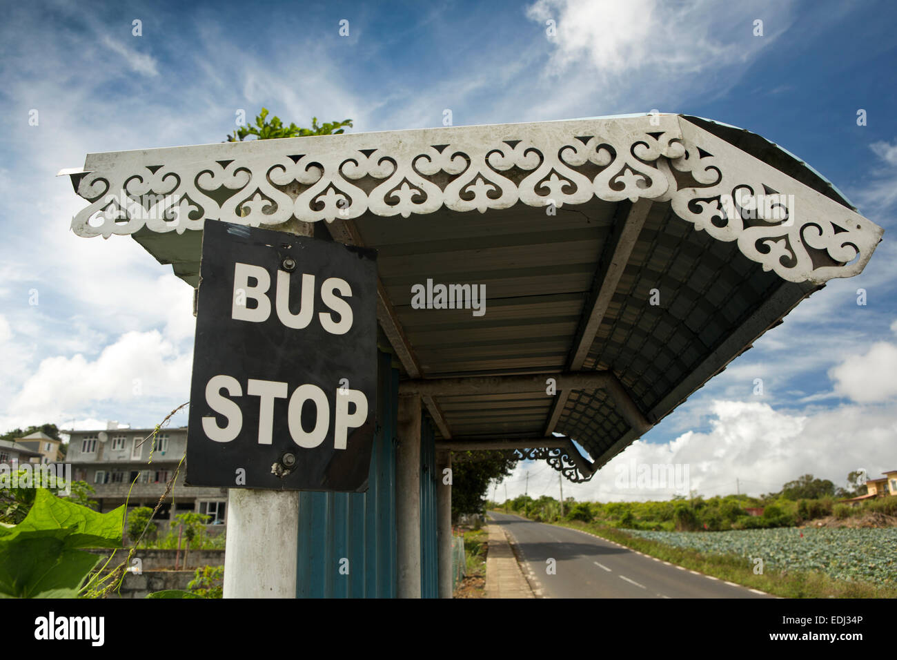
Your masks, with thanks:
[[(807, 473), (844, 486), (849, 471), (864, 468), (875, 474), (897, 468), (893, 453), (897, 403), (793, 412), (760, 402), (718, 400), (711, 411), (708, 433), (689, 431), (668, 443), (637, 441), (588, 483), (565, 481), (564, 497), (607, 502), (666, 500), (675, 494), (675, 488), (656, 488), (667, 486), (662, 481), (643, 488), (626, 480), (632, 463), (687, 466), (689, 488), (704, 497), (735, 493), (736, 488), (751, 495), (775, 492)], [(558, 497), (558, 473), (544, 462), (518, 463), (507, 480), (508, 497), (524, 492), (527, 470), (530, 497)], [(503, 488), (498, 495), (503, 496)]]

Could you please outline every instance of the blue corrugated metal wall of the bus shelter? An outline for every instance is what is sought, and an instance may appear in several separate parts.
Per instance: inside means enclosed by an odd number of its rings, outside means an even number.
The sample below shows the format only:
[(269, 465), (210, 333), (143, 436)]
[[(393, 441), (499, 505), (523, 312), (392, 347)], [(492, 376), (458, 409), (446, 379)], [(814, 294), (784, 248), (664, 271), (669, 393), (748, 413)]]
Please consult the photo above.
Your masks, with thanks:
[[(398, 370), (378, 356), (378, 431), (366, 493), (300, 493), (299, 598), (396, 596), (396, 423)], [(434, 436), (424, 419), (421, 472), (421, 577), (424, 598), (437, 597)], [(340, 573), (348, 559), (349, 574)], [(345, 562), (342, 562), (345, 565)]]

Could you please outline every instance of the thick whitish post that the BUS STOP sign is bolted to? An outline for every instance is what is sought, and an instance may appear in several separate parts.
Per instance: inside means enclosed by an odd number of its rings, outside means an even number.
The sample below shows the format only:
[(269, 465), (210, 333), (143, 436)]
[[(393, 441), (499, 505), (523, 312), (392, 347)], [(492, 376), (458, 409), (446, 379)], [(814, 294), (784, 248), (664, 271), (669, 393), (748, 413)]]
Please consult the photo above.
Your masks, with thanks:
[[(284, 233), (314, 236), (293, 220)], [(299, 491), (229, 488), (225, 598), (295, 598), (299, 556)]]

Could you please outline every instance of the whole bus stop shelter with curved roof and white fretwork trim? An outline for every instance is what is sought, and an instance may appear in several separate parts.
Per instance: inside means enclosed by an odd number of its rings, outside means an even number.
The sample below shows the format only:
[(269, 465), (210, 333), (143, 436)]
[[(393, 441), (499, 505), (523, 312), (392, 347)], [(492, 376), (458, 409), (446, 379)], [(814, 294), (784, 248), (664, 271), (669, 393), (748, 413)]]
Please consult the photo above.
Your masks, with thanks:
[[(883, 234), (778, 145), (675, 114), (88, 154), (62, 173), (89, 202), (74, 233), (129, 235), (194, 287), (206, 220), (379, 252), (369, 490), (231, 489), (232, 596), (450, 596), (451, 451), (590, 479)], [(440, 304), (439, 285), (483, 286), (484, 308)]]

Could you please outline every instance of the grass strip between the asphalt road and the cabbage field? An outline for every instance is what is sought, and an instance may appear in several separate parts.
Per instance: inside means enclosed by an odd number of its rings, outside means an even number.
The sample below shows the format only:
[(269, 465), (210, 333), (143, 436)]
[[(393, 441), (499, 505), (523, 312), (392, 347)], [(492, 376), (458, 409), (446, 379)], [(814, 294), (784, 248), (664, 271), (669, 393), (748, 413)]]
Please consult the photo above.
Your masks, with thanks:
[(783, 598), (897, 598), (897, 587), (890, 585), (846, 582), (816, 571), (777, 570), (754, 575), (753, 567), (745, 557), (710, 555), (697, 550), (676, 548), (658, 541), (640, 539), (623, 530), (605, 525), (576, 521), (552, 524), (591, 532), (608, 541), (616, 541), (632, 550), (639, 550), (671, 564)]

